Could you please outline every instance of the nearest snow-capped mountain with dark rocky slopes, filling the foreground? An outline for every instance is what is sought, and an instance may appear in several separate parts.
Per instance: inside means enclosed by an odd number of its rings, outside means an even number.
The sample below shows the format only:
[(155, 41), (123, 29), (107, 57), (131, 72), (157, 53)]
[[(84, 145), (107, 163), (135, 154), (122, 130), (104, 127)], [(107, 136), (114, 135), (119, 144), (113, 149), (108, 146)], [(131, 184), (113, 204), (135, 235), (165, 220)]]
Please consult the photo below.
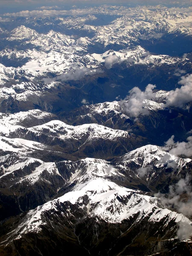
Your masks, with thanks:
[[(38, 255), (56, 250), (62, 255), (64, 248), (67, 253), (73, 244), (73, 252), (79, 248), (91, 255), (169, 253), (173, 245), (179, 248), (177, 253), (186, 250), (175, 236), (177, 223), (190, 221), (160, 208), (157, 198), (102, 179), (89, 180), (76, 189), (24, 215), (9, 237), (5, 236), (8, 245), (3, 253), (17, 250), (21, 255)], [(22, 244), (26, 244), (24, 248)]]

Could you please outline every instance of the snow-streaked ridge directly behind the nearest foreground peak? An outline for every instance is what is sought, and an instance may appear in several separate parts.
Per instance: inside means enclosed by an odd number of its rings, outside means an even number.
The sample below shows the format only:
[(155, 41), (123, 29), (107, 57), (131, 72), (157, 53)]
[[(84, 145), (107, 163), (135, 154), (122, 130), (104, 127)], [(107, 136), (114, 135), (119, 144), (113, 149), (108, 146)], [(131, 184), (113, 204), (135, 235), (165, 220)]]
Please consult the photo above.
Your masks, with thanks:
[[(10, 143), (11, 142), (9, 141), (9, 144)], [(32, 142), (26, 141), (26, 143), (28, 143), (30, 146), (30, 143)], [(14, 147), (16, 146), (17, 145), (15, 143)], [(41, 148), (38, 150), (41, 151)], [(44, 150), (46, 150), (46, 148), (44, 148)], [(20, 150), (15, 150), (14, 152), (18, 153), (17, 157), (15, 157), (15, 154), (10, 153), (1, 158), (0, 164), (2, 166), (1, 170), (3, 170), (2, 177), (17, 171), (18, 169), (23, 169), (23, 175), (25, 177), (24, 179), (21, 178), (19, 182), (22, 183), (23, 180), (28, 180), (29, 184), (31, 184), (35, 183), (39, 179), (41, 180), (41, 174), (44, 172), (44, 170), (49, 172), (50, 169), (50, 176), (54, 176), (55, 173), (60, 175), (60, 171), (62, 173), (62, 168), (59, 171), (56, 168), (55, 163), (44, 163), (42, 160), (24, 155), (27, 152), (27, 148), (25, 148), (25, 151), (23, 148), (20, 148)], [(125, 182), (125, 180), (128, 181), (130, 177), (136, 178), (137, 180), (137, 170), (139, 168), (147, 168), (150, 166), (153, 166), (153, 169), (155, 168), (150, 174), (150, 179), (153, 180), (154, 174), (158, 176), (161, 172), (163, 172), (164, 169), (167, 168), (172, 168), (172, 170), (175, 170), (175, 172), (179, 174), (180, 171), (188, 166), (191, 162), (191, 159), (176, 157), (162, 150), (162, 148), (158, 146), (146, 145), (141, 148), (137, 148), (136, 150), (133, 150), (122, 157), (116, 158), (113, 162), (102, 159), (85, 158), (76, 162), (63, 161), (60, 162), (58, 166), (65, 166), (64, 169), (69, 172), (68, 178), (66, 179), (65, 177), (65, 183), (70, 186), (72, 184), (86, 183), (88, 180), (95, 180), (98, 178), (105, 180), (116, 180), (117, 182), (119, 178), (121, 178), (122, 183)], [(38, 163), (38, 166), (31, 171), (30, 174), (26, 175), (24, 170), (27, 166), (29, 166), (29, 163)], [(4, 164), (6, 164), (7, 169), (3, 167)], [(149, 173), (147, 175), (149, 175)], [(18, 179), (17, 173), (15, 174), (15, 177), (12, 176), (13, 182), (15, 179)], [(141, 182), (140, 179), (139, 181), (136, 180), (135, 182)]]

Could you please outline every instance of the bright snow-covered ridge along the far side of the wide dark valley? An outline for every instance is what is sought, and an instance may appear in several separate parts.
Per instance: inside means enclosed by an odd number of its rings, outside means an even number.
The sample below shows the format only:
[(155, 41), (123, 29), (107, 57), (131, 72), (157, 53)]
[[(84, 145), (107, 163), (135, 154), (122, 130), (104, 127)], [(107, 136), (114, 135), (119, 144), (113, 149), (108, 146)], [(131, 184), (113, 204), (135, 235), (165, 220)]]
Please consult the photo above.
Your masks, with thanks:
[[(42, 41), (39, 39), (39, 43)], [(84, 39), (82, 39), (84, 40)], [(46, 40), (47, 42), (47, 40)], [(54, 46), (58, 45), (56, 42), (52, 43)], [(87, 43), (86, 43), (87, 45)], [(50, 44), (48, 44), (50, 47)], [(59, 50), (57, 49), (27, 49), (23, 51), (11, 51), (11, 50), (3, 50), (0, 52), (0, 55), (6, 56), (6, 58), (14, 58), (18, 60), (29, 60), (25, 61), (24, 64), (20, 69), (17, 68), (17, 72), (20, 70), (26, 70), (25, 72), (31, 73), (31, 77), (35, 76), (44, 76), (43, 72), (53, 72), (56, 74), (66, 73), (67, 70), (70, 70), (71, 67), (73, 68), (100, 68), (103, 64), (105, 64), (106, 59), (109, 56), (114, 57), (114, 55), (118, 58), (118, 63), (122, 61), (126, 61), (129, 66), (134, 64), (153, 64), (153, 65), (162, 65), (168, 64), (172, 65), (175, 63), (185, 63), (186, 60), (182, 58), (172, 58), (168, 55), (151, 55), (145, 49), (140, 46), (134, 47), (134, 49), (123, 49), (119, 52), (109, 50), (104, 52), (103, 54), (88, 54), (86, 49), (82, 49), (84, 54), (82, 55), (79, 52), (78, 47), (76, 45), (72, 45), (71, 47), (60, 47)], [(48, 51), (48, 52), (47, 52)], [(76, 67), (75, 67), (76, 65)], [(6, 68), (8, 69), (8, 68)], [(5, 70), (5, 67), (4, 67)], [(12, 69), (12, 72), (15, 69)], [(9, 72), (4, 71), (5, 73), (9, 74)], [(36, 73), (38, 73), (38, 75)], [(3, 73), (3, 72), (2, 72)], [(26, 74), (27, 76), (27, 74)], [(28, 75), (29, 76), (29, 75)], [(29, 76), (30, 77), (30, 76)], [(4, 78), (5, 79), (5, 78)]]

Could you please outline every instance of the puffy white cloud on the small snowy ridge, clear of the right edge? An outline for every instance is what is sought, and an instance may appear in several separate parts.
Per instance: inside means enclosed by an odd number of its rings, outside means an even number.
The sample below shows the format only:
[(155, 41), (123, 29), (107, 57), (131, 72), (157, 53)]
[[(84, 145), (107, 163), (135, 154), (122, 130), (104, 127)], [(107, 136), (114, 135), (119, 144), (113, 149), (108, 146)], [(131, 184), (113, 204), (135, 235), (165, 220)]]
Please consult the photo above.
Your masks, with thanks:
[(129, 91), (130, 95), (125, 98), (128, 101), (120, 103), (124, 111), (133, 117), (138, 117), (140, 114), (148, 115), (149, 111), (145, 99), (152, 99), (154, 97), (153, 89), (155, 87), (153, 84), (148, 84), (144, 92), (138, 87), (131, 89)]

